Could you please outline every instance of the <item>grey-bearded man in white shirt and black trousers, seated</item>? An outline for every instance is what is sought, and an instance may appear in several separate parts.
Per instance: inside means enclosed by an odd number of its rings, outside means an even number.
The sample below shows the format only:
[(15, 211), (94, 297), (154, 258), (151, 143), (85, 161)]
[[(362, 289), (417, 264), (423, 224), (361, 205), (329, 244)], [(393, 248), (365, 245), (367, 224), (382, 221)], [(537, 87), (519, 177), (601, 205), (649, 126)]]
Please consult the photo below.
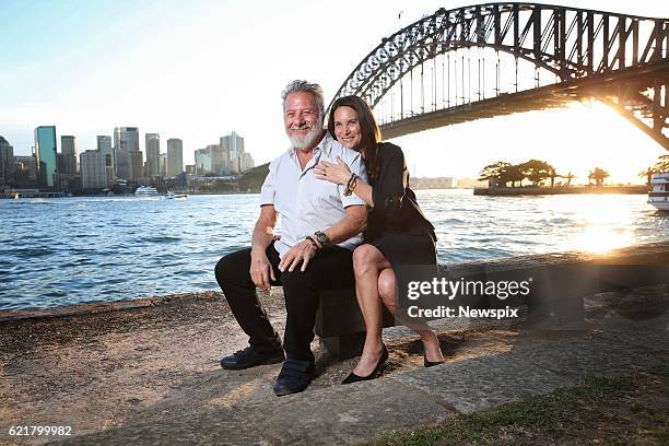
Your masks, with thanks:
[[(278, 396), (304, 390), (313, 379), (317, 292), (353, 286), (352, 250), (362, 242), (367, 210), (344, 187), (314, 176), (319, 161), (341, 157), (366, 178), (360, 153), (342, 146), (324, 129), (324, 97), (318, 84), (294, 81), (282, 94), (283, 120), (291, 149), (270, 164), (260, 193), (260, 218), (251, 248), (223, 257), (216, 281), (249, 347), (223, 357), (231, 369), (285, 362), (274, 385)], [(273, 240), (277, 215), (281, 238)], [(284, 345), (256, 294), (282, 285), (286, 322)]]

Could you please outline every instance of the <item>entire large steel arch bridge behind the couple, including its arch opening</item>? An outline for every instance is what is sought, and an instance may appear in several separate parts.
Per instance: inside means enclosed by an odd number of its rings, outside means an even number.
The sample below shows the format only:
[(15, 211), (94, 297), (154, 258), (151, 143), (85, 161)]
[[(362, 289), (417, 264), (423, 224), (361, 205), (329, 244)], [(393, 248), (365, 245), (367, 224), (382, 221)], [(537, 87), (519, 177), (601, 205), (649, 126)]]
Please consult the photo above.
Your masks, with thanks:
[(500, 2), (383, 38), (334, 98), (364, 97), (386, 139), (594, 98), (669, 150), (668, 87), (669, 19)]

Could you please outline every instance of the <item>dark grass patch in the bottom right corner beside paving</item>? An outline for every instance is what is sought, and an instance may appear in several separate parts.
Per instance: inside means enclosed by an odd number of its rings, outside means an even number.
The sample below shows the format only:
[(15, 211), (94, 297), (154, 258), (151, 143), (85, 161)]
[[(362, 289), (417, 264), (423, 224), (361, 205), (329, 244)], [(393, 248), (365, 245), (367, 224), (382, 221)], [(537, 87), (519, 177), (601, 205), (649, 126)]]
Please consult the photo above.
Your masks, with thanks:
[(368, 445), (563, 444), (669, 444), (669, 364), (615, 378), (588, 377), (574, 388), (457, 414)]

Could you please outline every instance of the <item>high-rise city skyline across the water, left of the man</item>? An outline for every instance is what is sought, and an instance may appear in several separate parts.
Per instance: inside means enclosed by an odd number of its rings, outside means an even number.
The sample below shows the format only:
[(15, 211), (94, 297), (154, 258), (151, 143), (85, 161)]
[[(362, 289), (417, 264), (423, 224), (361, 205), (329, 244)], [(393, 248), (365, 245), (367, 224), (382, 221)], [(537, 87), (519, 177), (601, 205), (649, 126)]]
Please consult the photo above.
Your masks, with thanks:
[(56, 126), (36, 127), (33, 154), (22, 156), (0, 136), (0, 187), (21, 184), (23, 188), (38, 188), (47, 193), (69, 193), (175, 179), (183, 186), (198, 176), (239, 175), (255, 167), (253, 156), (245, 152), (244, 138), (235, 131), (220, 137), (220, 144), (208, 145), (207, 149), (220, 149), (218, 165), (210, 162), (209, 166), (199, 168), (184, 164), (180, 139), (167, 139), (166, 152), (162, 153), (160, 134), (144, 133), (144, 151), (141, 151), (137, 127), (116, 127), (113, 137), (96, 136), (96, 148), (81, 153), (75, 136), (58, 137)]

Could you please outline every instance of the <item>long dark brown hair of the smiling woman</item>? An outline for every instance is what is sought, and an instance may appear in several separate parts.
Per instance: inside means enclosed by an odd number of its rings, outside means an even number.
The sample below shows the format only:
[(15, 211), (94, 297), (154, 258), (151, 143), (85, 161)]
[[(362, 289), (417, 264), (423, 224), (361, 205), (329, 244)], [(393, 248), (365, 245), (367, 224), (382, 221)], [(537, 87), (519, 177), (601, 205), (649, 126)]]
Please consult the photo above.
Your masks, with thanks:
[(337, 139), (334, 136), (334, 110), (339, 107), (351, 107), (357, 113), (361, 137), (357, 151), (365, 159), (369, 184), (373, 185), (378, 177), (378, 146), (382, 139), (376, 119), (374, 119), (374, 115), (367, 103), (362, 98), (357, 96), (342, 96), (334, 101), (334, 104), (332, 104), (330, 108), (330, 116), (328, 116), (328, 131), (334, 139)]

